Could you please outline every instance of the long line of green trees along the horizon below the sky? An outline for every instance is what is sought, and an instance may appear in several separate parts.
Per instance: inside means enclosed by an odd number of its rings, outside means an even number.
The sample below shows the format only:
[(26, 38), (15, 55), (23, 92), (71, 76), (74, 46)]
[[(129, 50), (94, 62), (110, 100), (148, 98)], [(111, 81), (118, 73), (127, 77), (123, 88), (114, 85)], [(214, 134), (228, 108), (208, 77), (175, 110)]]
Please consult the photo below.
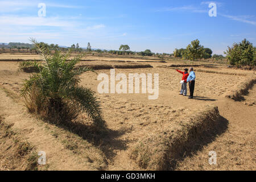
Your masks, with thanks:
[[(47, 44), (44, 42), (38, 43), (41, 47), (46, 47), (49, 51), (71, 51), (71, 52), (92, 52), (95, 51), (97, 53), (110, 53), (112, 55), (140, 55), (140, 56), (158, 56), (159, 58), (164, 58), (163, 56), (174, 56), (174, 57), (180, 57), (184, 60), (192, 60), (196, 61), (198, 59), (216, 59), (216, 60), (222, 60), (225, 57), (223, 55), (212, 55), (212, 49), (205, 48), (204, 46), (200, 45), (200, 41), (198, 39), (193, 40), (191, 44), (188, 44), (187, 48), (180, 48), (175, 49), (173, 54), (169, 53), (154, 53), (151, 52), (150, 49), (146, 49), (145, 51), (136, 52), (136, 51), (130, 51), (130, 47), (126, 45), (121, 45), (119, 47), (119, 50), (102, 50), (102, 49), (96, 49), (92, 50), (92, 47), (90, 46), (90, 43), (87, 44), (87, 48), (81, 48), (79, 46), (79, 43), (72, 44), (71, 47), (60, 47), (58, 44)], [(9, 48), (11, 51), (18, 49), (20, 51), (24, 51), (24, 49), (30, 50), (31, 53), (36, 51), (36, 48), (33, 44), (26, 44), (26, 43), (9, 43), (9, 45), (2, 45), (2, 50), (5, 50), (5, 48)], [(229, 60), (229, 63), (231, 65), (237, 65), (237, 67), (241, 67), (244, 65), (249, 65), (255, 67), (255, 60), (256, 60), (256, 48), (253, 46), (252, 43), (247, 41), (246, 39), (242, 40), (240, 43), (234, 43), (232, 47), (228, 46), (228, 49), (224, 52), (226, 54), (226, 59)]]

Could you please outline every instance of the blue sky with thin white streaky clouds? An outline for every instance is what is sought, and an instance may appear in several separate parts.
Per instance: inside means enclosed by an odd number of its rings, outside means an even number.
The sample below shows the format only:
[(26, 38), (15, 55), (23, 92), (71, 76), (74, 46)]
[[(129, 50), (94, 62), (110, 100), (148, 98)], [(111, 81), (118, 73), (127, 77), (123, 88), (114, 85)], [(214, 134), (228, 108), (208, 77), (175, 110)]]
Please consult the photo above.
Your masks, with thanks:
[[(46, 14), (40, 3), (46, 5)], [(216, 16), (209, 16), (216, 5)], [(172, 53), (192, 40), (222, 54), (244, 38), (256, 43), (256, 1), (0, 0), (0, 42), (39, 42)], [(213, 11), (210, 11), (213, 12)]]

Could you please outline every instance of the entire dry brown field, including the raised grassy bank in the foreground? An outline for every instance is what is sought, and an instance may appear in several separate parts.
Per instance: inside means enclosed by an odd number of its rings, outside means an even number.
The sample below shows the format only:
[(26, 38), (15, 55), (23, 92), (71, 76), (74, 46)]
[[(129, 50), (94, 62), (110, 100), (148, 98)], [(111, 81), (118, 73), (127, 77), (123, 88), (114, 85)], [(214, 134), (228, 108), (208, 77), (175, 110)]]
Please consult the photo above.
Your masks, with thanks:
[[(2, 54), (0, 59), (40, 57)], [(115, 69), (115, 74), (159, 73), (159, 98), (148, 100), (148, 94), (99, 94), (97, 74), (110, 75), (110, 70), (84, 73), (80, 84), (97, 93), (107, 128), (98, 131), (86, 115), (81, 115), (68, 129), (28, 113), (18, 94), (23, 80), (30, 73), (18, 72), (16, 61), (0, 61), (2, 122), (11, 125), (11, 130), (20, 140), (34, 146), (32, 151), (46, 152), (47, 165), (38, 166), (38, 169), (256, 169), (255, 86), (249, 89), (241, 102), (225, 98), (243, 81), (254, 77), (253, 72), (204, 63), (195, 67), (195, 98), (188, 100), (179, 96), (182, 75), (175, 71), (175, 67), (169, 67), (171, 64), (183, 64), (182, 61), (160, 63), (160, 60), (142, 58), (93, 56), (84, 59), (90, 61), (82, 61), (81, 65), (152, 65), (153, 68)], [(0, 135), (0, 141), (7, 138)], [(187, 147), (179, 146), (185, 144)], [(5, 145), (0, 149), (0, 169), (26, 169), (6, 162), (10, 159), (8, 156), (16, 152), (14, 148), (8, 155), (7, 148)], [(209, 151), (217, 152), (217, 165), (208, 163)]]

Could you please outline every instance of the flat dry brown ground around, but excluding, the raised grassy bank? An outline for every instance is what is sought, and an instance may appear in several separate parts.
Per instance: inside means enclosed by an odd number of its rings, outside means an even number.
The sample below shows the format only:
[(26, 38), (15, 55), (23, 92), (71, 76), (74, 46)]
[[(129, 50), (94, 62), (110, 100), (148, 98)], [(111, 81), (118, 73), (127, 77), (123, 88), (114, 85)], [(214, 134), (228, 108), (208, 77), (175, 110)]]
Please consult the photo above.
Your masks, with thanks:
[[(23, 58), (19, 56), (19, 59)], [(101, 57), (102, 59), (104, 61), (83, 61), (81, 64), (127, 64), (118, 61), (115, 63), (113, 58)], [(49, 164), (47, 169), (132, 170), (142, 169), (129, 157), (131, 148), (139, 139), (162, 133), (164, 129), (171, 127), (172, 123), (203, 111), (205, 105), (216, 105), (220, 115), (228, 121), (228, 129), (213, 142), (204, 144), (193, 155), (184, 154), (175, 169), (255, 170), (256, 107), (245, 105), (249, 100), (255, 101), (255, 86), (244, 96), (244, 102), (234, 102), (224, 97), (227, 92), (236, 89), (243, 80), (253, 75), (253, 72), (228, 69), (217, 64), (214, 64), (214, 68), (196, 68), (241, 74), (196, 72), (195, 99), (188, 100), (187, 97), (178, 95), (182, 75), (174, 69), (157, 68), (159, 65), (170, 63), (150, 64), (154, 68), (115, 69), (115, 74), (125, 73), (128, 76), (129, 73), (159, 73), (158, 100), (148, 100), (148, 94), (98, 94), (97, 85), (100, 81), (97, 81), (97, 75), (92, 72), (81, 75), (81, 85), (95, 90), (101, 101), (108, 125), (103, 134), (94, 131), (90, 133), (92, 123), (86, 115), (81, 115), (78, 123), (84, 123), (79, 126), (85, 127), (88, 134), (79, 133), (75, 129), (69, 131), (65, 127), (52, 125), (28, 114), (18, 93), (23, 80), (30, 74), (17, 72), (17, 62), (0, 61), (0, 115), (6, 123), (14, 123), (13, 129), (18, 131), (20, 136), (38, 150), (46, 151)], [(110, 71), (101, 70), (96, 73), (109, 75)], [(208, 163), (209, 151), (217, 152), (216, 166), (210, 166)]]

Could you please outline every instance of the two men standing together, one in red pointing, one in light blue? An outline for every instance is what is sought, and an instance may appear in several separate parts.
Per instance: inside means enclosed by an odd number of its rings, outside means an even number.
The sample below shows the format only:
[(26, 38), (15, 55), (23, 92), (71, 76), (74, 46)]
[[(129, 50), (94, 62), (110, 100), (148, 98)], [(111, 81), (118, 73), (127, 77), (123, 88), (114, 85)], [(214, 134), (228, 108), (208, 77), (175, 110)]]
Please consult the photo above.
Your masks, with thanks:
[(180, 71), (179, 69), (176, 69), (176, 71), (183, 74), (182, 81), (181, 81), (180, 95), (187, 96), (187, 82), (188, 82), (189, 93), (190, 93), (188, 98), (192, 99), (194, 95), (195, 80), (196, 80), (196, 74), (193, 71), (193, 68), (189, 68), (189, 73), (188, 73), (188, 68), (185, 68), (184, 72)]

